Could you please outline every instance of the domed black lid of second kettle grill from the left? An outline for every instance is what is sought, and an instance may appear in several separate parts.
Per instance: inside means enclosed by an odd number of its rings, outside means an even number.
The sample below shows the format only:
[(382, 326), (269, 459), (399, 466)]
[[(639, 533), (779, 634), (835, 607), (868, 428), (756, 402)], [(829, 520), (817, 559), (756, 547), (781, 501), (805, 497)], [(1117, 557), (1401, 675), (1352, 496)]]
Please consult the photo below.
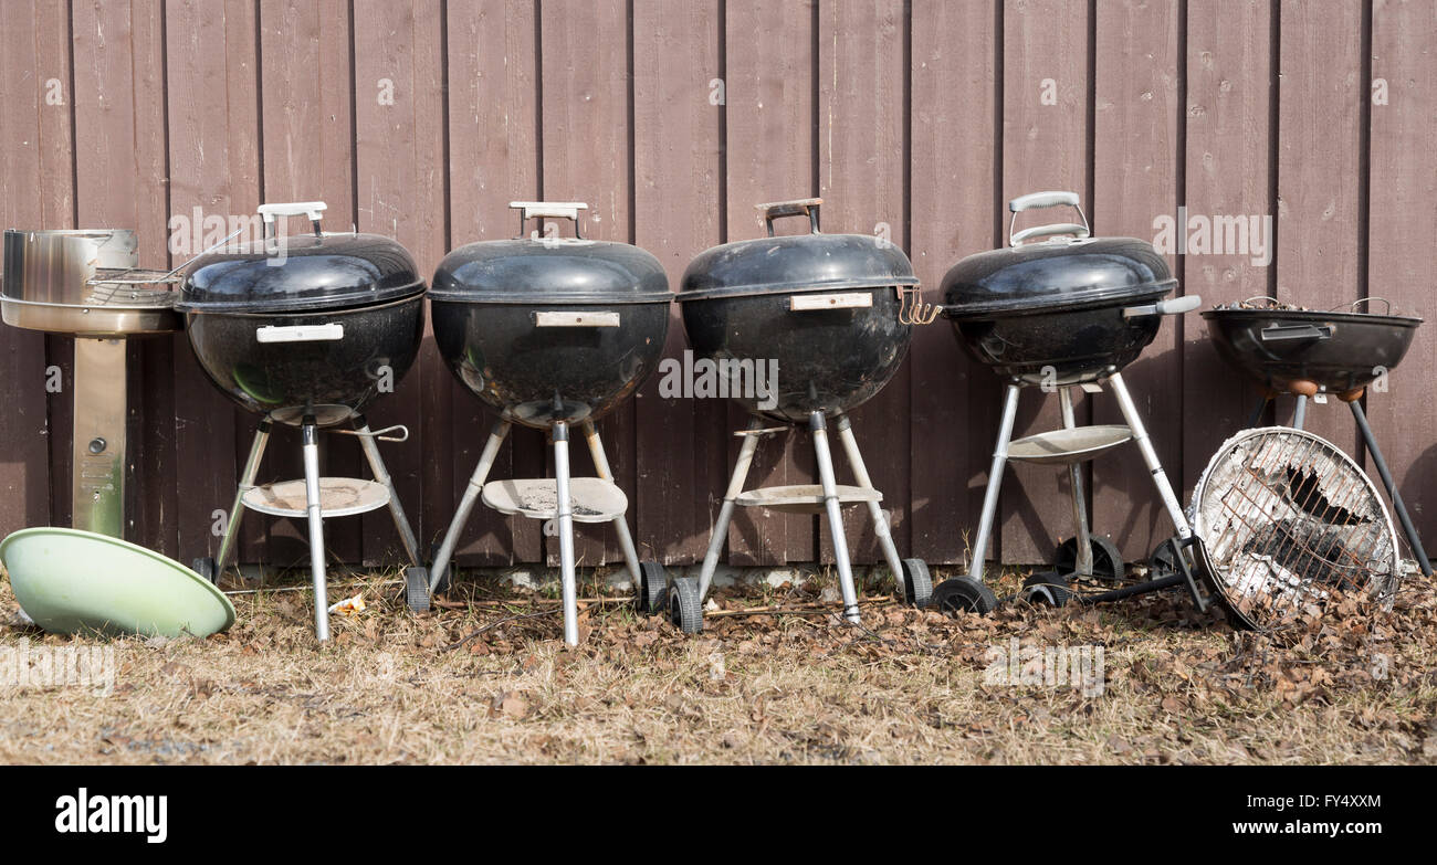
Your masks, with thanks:
[[(470, 243), (440, 262), (430, 297), (460, 303), (668, 303), (668, 276), (652, 254), (628, 243), (585, 240), (578, 201), (513, 201), (520, 237)], [(530, 218), (573, 220), (573, 237), (525, 237)], [(552, 224), (550, 224), (552, 227)]]

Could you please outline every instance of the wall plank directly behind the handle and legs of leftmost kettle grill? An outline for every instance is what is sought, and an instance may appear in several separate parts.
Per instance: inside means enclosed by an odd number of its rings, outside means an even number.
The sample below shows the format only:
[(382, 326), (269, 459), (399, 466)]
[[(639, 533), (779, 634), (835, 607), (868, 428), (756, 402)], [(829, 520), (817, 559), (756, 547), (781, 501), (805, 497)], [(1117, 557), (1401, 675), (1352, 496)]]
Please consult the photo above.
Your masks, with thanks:
[[(263, 200), (323, 201), (329, 205), (325, 230), (348, 231), (355, 224), (349, 4), (263, 0), (259, 16)], [(286, 226), (290, 233), (302, 230), (297, 223)], [(236, 447), (241, 461), (249, 455), (250, 435), (251, 430), (240, 428)], [(292, 430), (279, 430), (266, 451), (263, 477), (303, 477), (300, 447)], [(385, 447), (385, 454), (389, 450)], [(368, 477), (359, 441), (349, 435), (322, 437), (320, 471)], [(264, 532), (249, 537), (250, 543), (241, 549), (246, 560), (289, 563), (309, 555), (309, 537), (299, 520), (262, 517), (254, 524)], [(254, 543), (260, 539), (263, 545)], [(326, 522), (325, 546), (342, 562), (359, 562), (361, 520)]]

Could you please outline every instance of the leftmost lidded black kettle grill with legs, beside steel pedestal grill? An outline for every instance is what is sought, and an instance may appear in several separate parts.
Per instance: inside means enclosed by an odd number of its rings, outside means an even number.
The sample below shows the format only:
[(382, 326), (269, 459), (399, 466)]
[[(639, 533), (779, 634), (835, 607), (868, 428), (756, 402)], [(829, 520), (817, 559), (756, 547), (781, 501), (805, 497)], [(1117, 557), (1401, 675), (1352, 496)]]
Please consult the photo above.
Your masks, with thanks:
[[(230, 399), (263, 420), (254, 432), (214, 559), (223, 570), (244, 510), (308, 519), (315, 634), (329, 639), (323, 517), (389, 507), (404, 550), (420, 563), (414, 529), (375, 440), (405, 441), (404, 427), (369, 430), (362, 410), (394, 391), (424, 335), (424, 279), (397, 241), (319, 228), (323, 201), (263, 204), (264, 237), (194, 262), (175, 309), (200, 366)], [(276, 220), (308, 216), (313, 234), (276, 236)], [(254, 486), (272, 424), (299, 427), (305, 478)], [(336, 428), (349, 424), (351, 430)], [(319, 477), (319, 430), (358, 435), (374, 480)]]

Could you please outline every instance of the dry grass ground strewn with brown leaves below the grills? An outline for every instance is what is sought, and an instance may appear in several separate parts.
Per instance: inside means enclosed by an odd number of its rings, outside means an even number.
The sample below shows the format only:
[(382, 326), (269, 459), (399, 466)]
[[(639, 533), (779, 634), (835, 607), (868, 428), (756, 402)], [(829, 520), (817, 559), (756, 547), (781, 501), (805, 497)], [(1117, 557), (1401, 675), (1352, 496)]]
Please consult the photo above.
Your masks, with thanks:
[(0, 651), (115, 649), (109, 694), (0, 681), (0, 762), (1437, 763), (1420, 578), (1391, 612), (1276, 637), (1181, 595), (946, 618), (888, 588), (862, 628), (819, 608), (822, 580), (727, 589), (691, 638), (589, 586), (566, 649), (545, 592), (466, 582), (414, 616), (371, 576), (331, 592), (369, 606), (318, 648), (303, 591), (236, 596), (210, 639), (105, 641), (23, 625), (0, 582)]

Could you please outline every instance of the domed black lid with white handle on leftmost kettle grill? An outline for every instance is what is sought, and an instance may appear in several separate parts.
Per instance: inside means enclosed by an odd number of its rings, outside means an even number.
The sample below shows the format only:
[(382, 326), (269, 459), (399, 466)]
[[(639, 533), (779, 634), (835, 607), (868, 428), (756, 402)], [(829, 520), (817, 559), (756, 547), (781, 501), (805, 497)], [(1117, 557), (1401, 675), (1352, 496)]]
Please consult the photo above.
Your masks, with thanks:
[[(300, 312), (398, 300), (424, 292), (410, 253), (379, 234), (326, 234), (323, 201), (263, 204), (264, 239), (201, 256), (190, 267), (184, 312)], [(305, 214), (313, 234), (276, 237), (276, 218)]]

